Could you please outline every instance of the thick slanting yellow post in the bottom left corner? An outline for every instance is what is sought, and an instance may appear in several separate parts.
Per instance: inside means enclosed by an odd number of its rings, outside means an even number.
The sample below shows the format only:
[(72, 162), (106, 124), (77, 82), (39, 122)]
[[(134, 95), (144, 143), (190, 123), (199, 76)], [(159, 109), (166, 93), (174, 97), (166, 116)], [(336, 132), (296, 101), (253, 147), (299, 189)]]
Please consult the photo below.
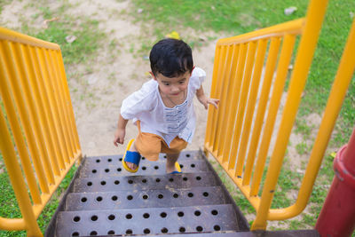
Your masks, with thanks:
[[(3, 54), (1, 54), (3, 55)], [(4, 65), (4, 64), (3, 64)], [(12, 146), (12, 140), (7, 130), (6, 122), (2, 110), (0, 109), (0, 150), (3, 154), (4, 164), (8, 170), (9, 178), (12, 182), (13, 192), (19, 203), (22, 217), (28, 227), (28, 236), (43, 236), (36, 222), (35, 213), (28, 196), (26, 183), (22, 178), (21, 168), (17, 162), (16, 154)]]

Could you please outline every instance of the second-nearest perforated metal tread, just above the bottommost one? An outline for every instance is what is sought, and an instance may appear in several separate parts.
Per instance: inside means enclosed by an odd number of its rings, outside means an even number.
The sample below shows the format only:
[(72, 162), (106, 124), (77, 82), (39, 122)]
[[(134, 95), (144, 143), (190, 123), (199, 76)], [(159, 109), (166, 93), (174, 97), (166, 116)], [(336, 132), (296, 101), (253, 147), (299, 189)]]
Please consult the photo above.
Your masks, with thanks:
[(222, 187), (196, 186), (185, 189), (72, 193), (67, 195), (66, 210), (165, 208), (225, 203)]

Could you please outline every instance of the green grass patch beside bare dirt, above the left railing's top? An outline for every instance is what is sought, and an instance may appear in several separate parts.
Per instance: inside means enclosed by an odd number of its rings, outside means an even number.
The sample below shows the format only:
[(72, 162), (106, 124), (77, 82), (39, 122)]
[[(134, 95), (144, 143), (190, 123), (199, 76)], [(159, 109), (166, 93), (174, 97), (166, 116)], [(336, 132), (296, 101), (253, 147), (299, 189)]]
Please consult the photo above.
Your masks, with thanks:
[[(31, 3), (27, 6), (39, 10), (32, 16), (34, 19), (42, 15), (46, 20), (53, 18), (58, 18), (58, 20), (48, 22), (48, 28), (42, 30), (32, 28), (33, 22), (24, 21), (20, 32), (44, 41), (58, 43), (66, 66), (85, 63), (96, 56), (96, 52), (106, 37), (106, 34), (99, 29), (98, 20), (67, 15), (66, 10), (71, 6), (67, 2), (63, 2), (56, 12), (52, 12), (46, 3)], [(75, 36), (76, 39), (73, 43), (67, 43), (67, 36)]]

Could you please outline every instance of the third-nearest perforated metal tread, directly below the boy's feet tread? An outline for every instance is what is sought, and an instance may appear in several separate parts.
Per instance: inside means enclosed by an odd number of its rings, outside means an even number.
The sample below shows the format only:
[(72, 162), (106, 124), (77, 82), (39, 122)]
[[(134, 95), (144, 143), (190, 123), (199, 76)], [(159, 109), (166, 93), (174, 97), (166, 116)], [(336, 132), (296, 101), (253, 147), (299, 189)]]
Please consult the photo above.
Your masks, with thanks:
[[(156, 182), (156, 180), (160, 180), (160, 182)], [(131, 189), (191, 188), (193, 186), (217, 186), (217, 179), (209, 172), (155, 176), (78, 178), (75, 180), (73, 192), (111, 192), (114, 190)]]

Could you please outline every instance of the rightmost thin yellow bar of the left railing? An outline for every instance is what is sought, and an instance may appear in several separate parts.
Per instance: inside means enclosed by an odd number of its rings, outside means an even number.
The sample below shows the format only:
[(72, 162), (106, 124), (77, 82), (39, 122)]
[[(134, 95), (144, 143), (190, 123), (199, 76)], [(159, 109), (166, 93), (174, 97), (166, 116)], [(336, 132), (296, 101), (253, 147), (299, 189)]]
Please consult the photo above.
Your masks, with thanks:
[(66, 71), (64, 69), (64, 64), (63, 64), (63, 57), (62, 57), (60, 51), (56, 51), (56, 53), (57, 53), (57, 59), (58, 59), (58, 64), (59, 64), (61, 84), (62, 84), (62, 87), (65, 92), (67, 113), (68, 113), (68, 115), (70, 115), (71, 130), (72, 130), (72, 133), (74, 136), (74, 141), (75, 141), (75, 153), (81, 153), (79, 136), (78, 136), (78, 133), (76, 130), (76, 124), (75, 124), (74, 109), (72, 106), (72, 101), (70, 99), (69, 86), (67, 85), (67, 76), (66, 76)]

